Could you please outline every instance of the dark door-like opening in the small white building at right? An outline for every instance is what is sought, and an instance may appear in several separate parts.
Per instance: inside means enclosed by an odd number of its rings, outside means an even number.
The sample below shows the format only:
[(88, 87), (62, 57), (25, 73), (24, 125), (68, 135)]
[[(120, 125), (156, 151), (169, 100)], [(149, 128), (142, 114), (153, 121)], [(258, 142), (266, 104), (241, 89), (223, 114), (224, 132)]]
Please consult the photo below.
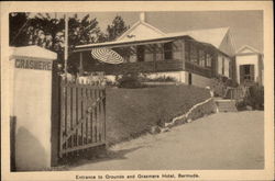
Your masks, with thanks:
[(254, 81), (254, 65), (240, 66), (240, 83)]

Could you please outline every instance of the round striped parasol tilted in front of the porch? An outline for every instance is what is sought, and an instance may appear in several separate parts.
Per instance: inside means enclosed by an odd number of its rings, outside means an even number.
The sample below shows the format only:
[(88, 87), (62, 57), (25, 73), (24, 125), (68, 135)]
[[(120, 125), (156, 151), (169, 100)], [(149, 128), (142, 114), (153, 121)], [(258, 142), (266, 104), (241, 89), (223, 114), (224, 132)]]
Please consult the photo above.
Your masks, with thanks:
[(94, 48), (91, 49), (91, 56), (95, 59), (107, 64), (121, 64), (123, 58), (112, 49), (109, 48)]

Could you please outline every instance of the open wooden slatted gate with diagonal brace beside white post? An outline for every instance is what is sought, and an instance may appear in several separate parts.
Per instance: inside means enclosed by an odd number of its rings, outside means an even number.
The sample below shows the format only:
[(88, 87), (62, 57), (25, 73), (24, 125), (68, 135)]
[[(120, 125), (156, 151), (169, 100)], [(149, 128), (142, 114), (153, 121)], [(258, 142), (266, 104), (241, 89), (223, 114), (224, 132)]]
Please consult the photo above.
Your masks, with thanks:
[(106, 88), (61, 81), (59, 158), (106, 143)]

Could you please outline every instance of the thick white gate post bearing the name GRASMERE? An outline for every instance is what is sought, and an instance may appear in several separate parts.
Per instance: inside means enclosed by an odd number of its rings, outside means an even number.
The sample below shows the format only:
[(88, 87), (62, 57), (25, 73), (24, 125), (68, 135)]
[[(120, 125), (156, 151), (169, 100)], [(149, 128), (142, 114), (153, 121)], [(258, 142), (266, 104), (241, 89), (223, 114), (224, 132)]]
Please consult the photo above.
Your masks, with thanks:
[(42, 170), (52, 165), (52, 69), (56, 57), (56, 53), (38, 46), (12, 48), (16, 171)]

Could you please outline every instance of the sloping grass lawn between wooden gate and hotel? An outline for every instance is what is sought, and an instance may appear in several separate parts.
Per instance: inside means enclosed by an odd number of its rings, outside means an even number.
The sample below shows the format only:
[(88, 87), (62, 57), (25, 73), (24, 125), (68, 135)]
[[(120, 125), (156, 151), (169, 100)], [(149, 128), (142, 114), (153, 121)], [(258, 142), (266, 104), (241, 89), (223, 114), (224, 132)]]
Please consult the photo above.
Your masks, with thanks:
[(107, 89), (107, 140), (110, 145), (138, 137), (152, 126), (169, 122), (209, 92), (193, 86), (164, 86), (141, 89)]

